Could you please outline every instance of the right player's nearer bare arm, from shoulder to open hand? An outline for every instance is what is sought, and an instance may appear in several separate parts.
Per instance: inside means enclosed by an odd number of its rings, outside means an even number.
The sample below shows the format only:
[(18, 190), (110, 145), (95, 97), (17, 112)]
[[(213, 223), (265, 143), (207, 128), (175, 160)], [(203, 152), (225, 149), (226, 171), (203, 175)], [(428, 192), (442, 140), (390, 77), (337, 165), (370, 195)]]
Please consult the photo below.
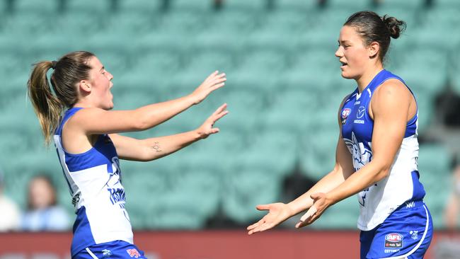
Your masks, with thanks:
[(297, 227), (313, 223), (331, 205), (355, 195), (389, 175), (406, 132), (411, 98), (412, 94), (399, 81), (386, 81), (374, 91), (370, 110), (374, 116), (372, 161), (333, 190), (314, 193), (314, 205), (301, 218)]

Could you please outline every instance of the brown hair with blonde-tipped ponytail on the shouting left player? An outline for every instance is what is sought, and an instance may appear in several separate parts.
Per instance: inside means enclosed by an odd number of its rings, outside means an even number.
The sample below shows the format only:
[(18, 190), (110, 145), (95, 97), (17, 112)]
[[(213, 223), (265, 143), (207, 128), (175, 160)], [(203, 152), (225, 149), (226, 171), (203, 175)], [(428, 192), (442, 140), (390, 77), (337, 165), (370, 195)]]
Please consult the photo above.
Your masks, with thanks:
[[(89, 59), (95, 57), (91, 52), (77, 51), (65, 54), (57, 61), (42, 61), (34, 64), (28, 80), (28, 96), (42, 127), (45, 143), (50, 144), (51, 137), (59, 125), (64, 108), (71, 108), (78, 100), (76, 84), (89, 78), (91, 67)], [(51, 86), (47, 71), (51, 74)]]

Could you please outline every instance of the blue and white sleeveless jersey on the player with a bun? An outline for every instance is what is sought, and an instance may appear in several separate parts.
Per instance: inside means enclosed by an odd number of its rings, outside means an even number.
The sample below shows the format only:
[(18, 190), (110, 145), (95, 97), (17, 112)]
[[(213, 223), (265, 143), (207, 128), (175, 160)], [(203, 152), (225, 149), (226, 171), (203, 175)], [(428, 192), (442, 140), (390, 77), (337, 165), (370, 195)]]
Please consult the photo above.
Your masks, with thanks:
[[(352, 154), (355, 171), (372, 161), (374, 121), (369, 115), (369, 102), (375, 89), (388, 79), (398, 79), (406, 85), (400, 77), (382, 70), (362, 93), (358, 89), (353, 91), (341, 109), (342, 136)], [(418, 179), (417, 127), (418, 112), (406, 125), (406, 133), (389, 176), (357, 194), (360, 203), (360, 217), (357, 222), (359, 229), (374, 229), (405, 202), (422, 200), (425, 196), (423, 185)]]

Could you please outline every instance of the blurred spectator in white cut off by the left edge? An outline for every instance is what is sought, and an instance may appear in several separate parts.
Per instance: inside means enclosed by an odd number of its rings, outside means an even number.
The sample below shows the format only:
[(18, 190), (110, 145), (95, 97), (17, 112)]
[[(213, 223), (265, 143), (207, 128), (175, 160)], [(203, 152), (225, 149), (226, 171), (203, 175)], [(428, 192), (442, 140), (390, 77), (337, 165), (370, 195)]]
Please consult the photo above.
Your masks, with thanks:
[(0, 232), (18, 230), (21, 213), (18, 206), (3, 193), (4, 181), (0, 171)]

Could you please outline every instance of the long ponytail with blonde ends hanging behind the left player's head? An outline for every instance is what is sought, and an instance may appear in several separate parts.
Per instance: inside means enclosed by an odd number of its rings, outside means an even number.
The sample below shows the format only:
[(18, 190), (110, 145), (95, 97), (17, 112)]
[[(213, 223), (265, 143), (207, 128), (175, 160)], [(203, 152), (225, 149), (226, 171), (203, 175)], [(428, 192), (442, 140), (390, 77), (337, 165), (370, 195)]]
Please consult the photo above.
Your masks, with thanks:
[(59, 125), (59, 120), (64, 110), (62, 102), (53, 95), (48, 83), (47, 71), (53, 67), (52, 62), (38, 62), (33, 68), (27, 82), (28, 96), (33, 104), (45, 136), (45, 144), (50, 144), (54, 130)]

